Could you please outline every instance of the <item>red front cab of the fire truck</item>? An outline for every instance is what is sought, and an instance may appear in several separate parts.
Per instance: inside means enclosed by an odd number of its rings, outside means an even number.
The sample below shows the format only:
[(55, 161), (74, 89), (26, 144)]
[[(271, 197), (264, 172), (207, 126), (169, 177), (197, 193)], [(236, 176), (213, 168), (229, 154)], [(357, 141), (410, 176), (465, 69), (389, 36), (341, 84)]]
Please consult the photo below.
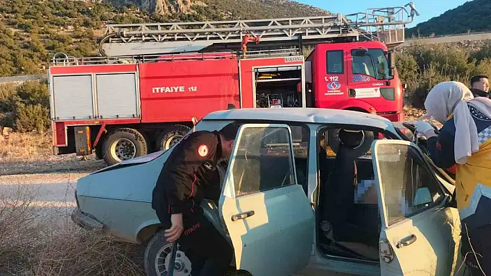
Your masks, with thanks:
[(309, 106), (374, 113), (393, 122), (405, 119), (395, 55), (385, 44), (318, 44), (306, 68)]

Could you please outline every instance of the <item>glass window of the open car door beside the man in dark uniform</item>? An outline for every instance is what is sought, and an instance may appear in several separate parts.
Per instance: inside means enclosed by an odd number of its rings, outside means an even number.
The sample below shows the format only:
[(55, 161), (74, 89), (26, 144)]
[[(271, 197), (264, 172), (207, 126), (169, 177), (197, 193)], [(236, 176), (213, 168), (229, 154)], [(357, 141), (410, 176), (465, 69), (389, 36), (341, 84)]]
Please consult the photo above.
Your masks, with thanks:
[(296, 183), (286, 127), (246, 128), (238, 142), (230, 164), (236, 196)]

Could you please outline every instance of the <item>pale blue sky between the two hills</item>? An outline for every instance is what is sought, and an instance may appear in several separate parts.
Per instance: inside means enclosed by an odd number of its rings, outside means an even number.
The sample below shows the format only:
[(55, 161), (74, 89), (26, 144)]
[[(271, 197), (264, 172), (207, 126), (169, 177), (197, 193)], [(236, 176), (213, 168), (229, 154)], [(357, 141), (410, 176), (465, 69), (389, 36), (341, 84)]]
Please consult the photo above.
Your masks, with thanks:
[[(420, 12), (419, 17), (415, 17), (413, 23), (406, 27), (411, 28), (416, 24), (427, 21), (431, 17), (438, 17), (443, 12), (457, 8), (469, 0), (346, 0), (346, 1), (323, 1), (323, 0), (296, 0), (300, 3), (316, 6), (329, 12), (341, 12), (345, 15), (355, 12), (365, 12), (367, 8), (386, 8), (395, 6), (404, 6), (413, 2), (416, 10)], [(407, 8), (406, 8), (407, 9)], [(408, 10), (408, 9), (407, 9)]]

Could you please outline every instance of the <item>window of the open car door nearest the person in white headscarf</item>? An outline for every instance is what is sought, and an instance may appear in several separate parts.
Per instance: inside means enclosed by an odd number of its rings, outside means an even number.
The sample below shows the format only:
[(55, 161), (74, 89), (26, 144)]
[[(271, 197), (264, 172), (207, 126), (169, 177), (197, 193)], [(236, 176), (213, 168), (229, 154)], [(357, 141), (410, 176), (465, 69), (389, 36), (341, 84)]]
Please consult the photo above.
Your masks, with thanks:
[(432, 208), (443, 192), (418, 151), (408, 145), (377, 145), (380, 183), (388, 225)]

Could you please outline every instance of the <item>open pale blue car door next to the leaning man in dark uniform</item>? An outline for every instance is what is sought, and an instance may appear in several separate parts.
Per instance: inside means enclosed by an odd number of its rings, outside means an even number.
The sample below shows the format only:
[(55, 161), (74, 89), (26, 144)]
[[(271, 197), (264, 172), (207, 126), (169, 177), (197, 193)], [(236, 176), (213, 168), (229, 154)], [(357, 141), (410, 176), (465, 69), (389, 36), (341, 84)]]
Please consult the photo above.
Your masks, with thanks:
[(315, 219), (297, 184), (288, 125), (242, 125), (225, 175), (220, 215), (237, 269), (284, 276), (307, 266)]

